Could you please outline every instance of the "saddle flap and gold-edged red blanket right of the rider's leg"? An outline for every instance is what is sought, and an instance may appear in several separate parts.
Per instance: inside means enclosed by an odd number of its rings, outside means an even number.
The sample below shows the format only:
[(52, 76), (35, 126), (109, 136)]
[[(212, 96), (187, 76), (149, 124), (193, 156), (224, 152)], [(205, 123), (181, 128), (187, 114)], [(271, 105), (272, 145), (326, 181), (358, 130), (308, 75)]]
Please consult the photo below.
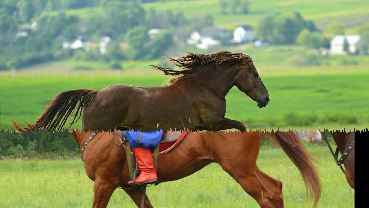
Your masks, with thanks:
[[(159, 154), (165, 154), (175, 148), (177, 145), (179, 145), (180, 142), (183, 141), (183, 139), (187, 136), (189, 131), (183, 131), (183, 132), (176, 132), (176, 131), (170, 131), (165, 132), (163, 134), (163, 137), (160, 141), (160, 147), (159, 147)], [(121, 135), (121, 134), (118, 134)], [(121, 136), (120, 136), (121, 137)], [(123, 138), (122, 138), (123, 139)], [(154, 150), (151, 150), (154, 152)], [(131, 147), (131, 152), (133, 152), (133, 148)]]

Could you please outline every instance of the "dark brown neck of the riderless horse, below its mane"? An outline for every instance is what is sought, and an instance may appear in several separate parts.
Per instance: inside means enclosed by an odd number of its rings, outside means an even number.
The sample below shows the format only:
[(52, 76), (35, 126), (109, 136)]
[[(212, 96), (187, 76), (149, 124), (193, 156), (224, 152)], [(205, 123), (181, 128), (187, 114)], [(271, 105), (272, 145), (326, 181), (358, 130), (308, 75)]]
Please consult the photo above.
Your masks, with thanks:
[(209, 64), (202, 68), (197, 76), (193, 77), (193, 81), (201, 85), (205, 84), (225, 97), (228, 91), (235, 85), (235, 76), (239, 70), (239, 64), (235, 62), (218, 65)]

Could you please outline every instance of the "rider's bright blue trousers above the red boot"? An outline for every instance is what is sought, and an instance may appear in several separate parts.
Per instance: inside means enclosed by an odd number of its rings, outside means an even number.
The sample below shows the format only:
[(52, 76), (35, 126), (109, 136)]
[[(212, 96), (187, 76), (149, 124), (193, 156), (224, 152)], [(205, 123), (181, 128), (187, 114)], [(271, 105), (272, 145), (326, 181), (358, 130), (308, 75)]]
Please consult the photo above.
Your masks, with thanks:
[(126, 131), (125, 135), (133, 148), (146, 147), (154, 149), (158, 146), (164, 132), (159, 131)]

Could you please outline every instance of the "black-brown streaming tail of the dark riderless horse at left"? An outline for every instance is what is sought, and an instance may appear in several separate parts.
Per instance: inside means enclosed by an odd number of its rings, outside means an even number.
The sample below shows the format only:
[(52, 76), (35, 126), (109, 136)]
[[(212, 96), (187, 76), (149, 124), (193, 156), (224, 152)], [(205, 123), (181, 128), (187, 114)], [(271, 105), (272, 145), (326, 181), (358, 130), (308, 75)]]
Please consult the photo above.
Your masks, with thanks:
[(96, 93), (96, 90), (91, 89), (78, 89), (62, 92), (48, 104), (45, 111), (40, 115), (34, 125), (25, 122), (28, 125), (28, 128), (22, 128), (15, 121), (13, 121), (13, 125), (18, 131), (61, 131), (67, 118), (75, 110), (73, 120), (68, 128), (69, 130), (70, 127), (81, 117), (83, 108), (92, 101)]

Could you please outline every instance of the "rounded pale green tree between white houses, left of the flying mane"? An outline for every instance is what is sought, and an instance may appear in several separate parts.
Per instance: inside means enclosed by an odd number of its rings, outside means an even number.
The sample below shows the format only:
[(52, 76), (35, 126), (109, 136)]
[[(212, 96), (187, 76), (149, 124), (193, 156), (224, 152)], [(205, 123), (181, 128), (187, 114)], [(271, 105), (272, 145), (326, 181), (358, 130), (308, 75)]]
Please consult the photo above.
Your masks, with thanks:
[(125, 41), (128, 43), (126, 48), (127, 57), (136, 60), (147, 54), (145, 44), (149, 41), (146, 26), (136, 26), (127, 31)]

